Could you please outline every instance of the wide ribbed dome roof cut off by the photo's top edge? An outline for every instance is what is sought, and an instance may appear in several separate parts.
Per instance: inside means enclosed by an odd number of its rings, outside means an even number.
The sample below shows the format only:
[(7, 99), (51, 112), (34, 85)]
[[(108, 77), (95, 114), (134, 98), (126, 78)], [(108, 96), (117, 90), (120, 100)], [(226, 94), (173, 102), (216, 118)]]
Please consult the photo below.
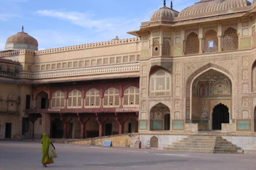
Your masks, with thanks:
[(185, 8), (179, 13), (179, 16), (188, 16), (202, 14), (207, 12), (215, 12), (232, 8), (240, 8), (251, 5), (248, 0), (200, 0), (196, 4)]

